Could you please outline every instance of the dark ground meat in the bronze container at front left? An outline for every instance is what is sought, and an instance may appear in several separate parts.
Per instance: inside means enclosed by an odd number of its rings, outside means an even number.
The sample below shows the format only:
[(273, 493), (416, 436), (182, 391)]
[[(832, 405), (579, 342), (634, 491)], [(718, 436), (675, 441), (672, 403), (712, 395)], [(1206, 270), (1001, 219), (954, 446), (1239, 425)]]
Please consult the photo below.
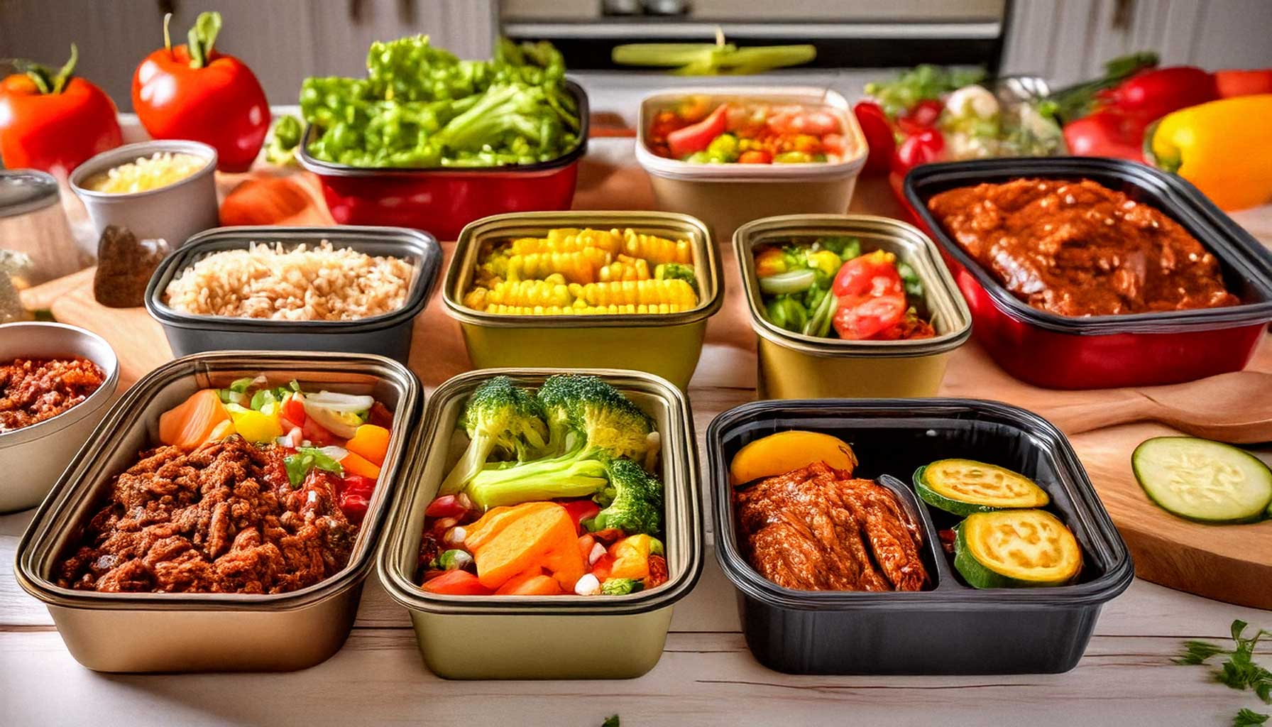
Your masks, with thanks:
[(277, 444), (242, 437), (193, 452), (158, 447), (116, 477), (106, 505), (57, 573), (83, 591), (285, 593), (349, 563), (357, 527), (336, 479), (291, 489)]

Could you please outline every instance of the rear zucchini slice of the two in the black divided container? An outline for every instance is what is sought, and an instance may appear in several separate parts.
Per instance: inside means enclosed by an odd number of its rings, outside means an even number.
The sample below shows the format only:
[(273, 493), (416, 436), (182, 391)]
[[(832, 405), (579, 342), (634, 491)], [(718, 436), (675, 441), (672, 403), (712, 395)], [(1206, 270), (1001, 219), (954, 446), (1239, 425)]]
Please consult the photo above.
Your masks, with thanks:
[(974, 460), (937, 460), (915, 470), (915, 491), (925, 503), (968, 516), (1010, 508), (1040, 508), (1047, 491), (1029, 477)]

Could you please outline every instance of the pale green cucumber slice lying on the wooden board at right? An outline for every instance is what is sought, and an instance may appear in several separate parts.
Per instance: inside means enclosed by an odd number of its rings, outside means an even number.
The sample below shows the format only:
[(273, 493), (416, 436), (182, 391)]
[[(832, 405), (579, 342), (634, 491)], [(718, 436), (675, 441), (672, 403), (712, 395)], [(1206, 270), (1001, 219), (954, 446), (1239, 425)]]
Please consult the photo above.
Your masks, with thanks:
[(1154, 437), (1131, 455), (1144, 494), (1197, 522), (1272, 517), (1272, 470), (1244, 449), (1196, 437)]

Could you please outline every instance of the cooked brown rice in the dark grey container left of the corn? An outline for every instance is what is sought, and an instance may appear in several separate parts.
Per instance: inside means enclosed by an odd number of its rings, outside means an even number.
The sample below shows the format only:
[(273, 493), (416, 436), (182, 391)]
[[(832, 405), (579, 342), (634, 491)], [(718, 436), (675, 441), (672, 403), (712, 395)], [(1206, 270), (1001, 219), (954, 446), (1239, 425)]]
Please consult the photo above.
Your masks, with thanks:
[(282, 321), (352, 321), (402, 307), (412, 267), (331, 242), (286, 250), (281, 242), (223, 250), (168, 284), (165, 302), (198, 316)]

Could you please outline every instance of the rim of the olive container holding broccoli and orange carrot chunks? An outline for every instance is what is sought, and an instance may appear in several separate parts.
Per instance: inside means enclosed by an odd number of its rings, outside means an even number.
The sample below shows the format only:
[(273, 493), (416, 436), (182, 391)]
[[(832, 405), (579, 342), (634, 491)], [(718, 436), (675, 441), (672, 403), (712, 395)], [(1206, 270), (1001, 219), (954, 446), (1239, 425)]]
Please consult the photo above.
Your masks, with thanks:
[[(522, 378), (547, 378), (561, 373), (556, 369), (544, 368), (491, 368), (476, 369), (455, 374), (443, 382), (429, 399), (420, 425), (413, 434), (413, 446), (410, 455), (412, 463), (408, 466), (406, 476), (418, 481), (425, 462), (425, 449), (439, 427), (453, 427), (454, 421), (443, 421), (443, 407), (445, 404), (459, 396), (460, 391), (467, 391), (473, 381), (487, 379), (495, 376), (509, 376), (514, 379)], [(411, 611), (422, 611), (435, 615), (518, 615), (518, 616), (631, 616), (649, 614), (674, 606), (693, 591), (702, 577), (702, 563), (705, 560), (705, 536), (702, 494), (698, 486), (698, 457), (695, 444), (695, 432), (692, 424), (692, 411), (688, 397), (679, 387), (672, 382), (651, 373), (627, 369), (571, 369), (570, 373), (597, 376), (612, 383), (616, 388), (635, 388), (642, 393), (660, 396), (670, 405), (673, 427), (682, 430), (673, 438), (670, 433), (663, 437), (661, 447), (664, 457), (682, 458), (682, 455), (670, 455), (669, 442), (677, 442), (683, 447), (684, 470), (684, 530), (688, 533), (684, 547), (687, 550), (688, 568), (681, 570), (667, 583), (650, 591), (640, 591), (626, 596), (452, 596), (443, 593), (429, 593), (403, 577), (393, 563), (399, 549), (401, 533), (406, 528), (406, 519), (411, 511), (413, 498), (417, 495), (417, 485), (404, 484), (394, 490), (394, 502), (389, 504), (388, 517), (384, 523), (385, 535), (380, 540), (380, 546), (375, 556), (377, 574), (380, 584), (389, 597), (398, 605)], [(654, 393), (656, 392), (656, 393)], [(665, 488), (670, 488), (664, 483)], [(664, 527), (664, 536), (670, 525)], [(410, 546), (410, 544), (407, 545)], [(413, 544), (418, 549), (418, 544)], [(413, 551), (412, 551), (413, 553)]]

